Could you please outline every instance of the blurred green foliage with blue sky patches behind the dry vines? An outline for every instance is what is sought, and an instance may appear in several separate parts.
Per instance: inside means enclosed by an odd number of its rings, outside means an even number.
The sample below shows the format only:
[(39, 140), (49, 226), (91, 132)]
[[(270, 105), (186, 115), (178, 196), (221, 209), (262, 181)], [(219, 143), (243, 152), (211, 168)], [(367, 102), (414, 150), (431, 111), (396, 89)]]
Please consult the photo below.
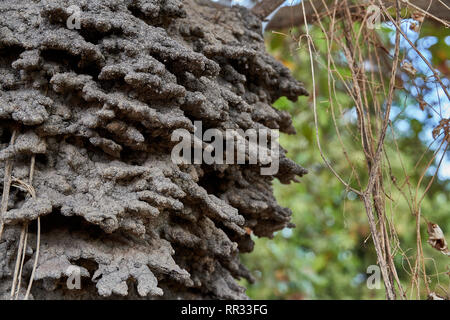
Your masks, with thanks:
[[(408, 32), (408, 21), (405, 22)], [(316, 50), (325, 50), (323, 35), (311, 25), (310, 29)], [(293, 28), (286, 34), (266, 31), (268, 51), (294, 76), (312, 91), (311, 70), (306, 41), (299, 34), (303, 31)], [(395, 32), (388, 24), (378, 30), (386, 48), (392, 50)], [(412, 36), (421, 52), (429, 57), (437, 67), (445, 85), (449, 87), (450, 32), (438, 24), (424, 23), (420, 35)], [(339, 54), (339, 49), (336, 49)], [(403, 88), (396, 91), (391, 112), (393, 132), (388, 130), (385, 148), (389, 155), (391, 171), (384, 168), (387, 177), (398, 182), (405, 178), (413, 187), (424, 170), (426, 182), (437, 169), (434, 161), (427, 170), (427, 162), (432, 159), (435, 145), (432, 129), (438, 118), (432, 108), (424, 108), (416, 99), (418, 96), (428, 99), (427, 103), (440, 109), (441, 116), (449, 117), (450, 102), (427, 82), (427, 71), (415, 64), (414, 52), (403, 45), (402, 59), (410, 61), (418, 72), (415, 76), (402, 73)], [(342, 72), (346, 72), (345, 59), (341, 60)], [(348, 162), (342, 154), (335, 125), (330, 115), (328, 101), (327, 69), (316, 61), (316, 94), (319, 128), (323, 151), (344, 179), (352, 179)], [(413, 90), (414, 89), (414, 90)], [(356, 128), (355, 111), (351, 97), (343, 88), (337, 87), (336, 101), (342, 107), (338, 115), (339, 126)], [(419, 93), (420, 91), (420, 93)], [(412, 96), (412, 98), (411, 98)], [(435, 101), (437, 100), (437, 101)], [(244, 264), (252, 271), (257, 281), (249, 284), (247, 294), (253, 299), (384, 299), (384, 286), (380, 289), (368, 289), (366, 273), (368, 266), (377, 263), (375, 250), (367, 216), (358, 196), (347, 192), (344, 186), (325, 166), (319, 154), (315, 139), (314, 118), (311, 97), (300, 97), (297, 102), (280, 98), (274, 106), (287, 110), (293, 117), (296, 135), (282, 135), (281, 145), (288, 150), (288, 156), (309, 170), (309, 174), (300, 183), (282, 185), (274, 182), (274, 190), (279, 203), (293, 212), (294, 229), (284, 229), (276, 233), (273, 240), (259, 239), (251, 254), (242, 255)], [(349, 130), (351, 131), (351, 130)], [(349, 156), (358, 165), (361, 176), (367, 176), (364, 155), (355, 144), (351, 134), (343, 133), (343, 142), (349, 146)], [(359, 142), (358, 142), (359, 143)], [(396, 146), (398, 145), (398, 148)], [(423, 156), (423, 157), (422, 157)], [(437, 180), (425, 196), (422, 215), (437, 223), (447, 236), (450, 234), (450, 164), (448, 154), (444, 156)], [(402, 169), (404, 167), (404, 169)], [(405, 177), (405, 171), (407, 175)], [(395, 222), (400, 247), (396, 252), (395, 263), (405, 288), (410, 286), (410, 272), (406, 257), (416, 254), (415, 219), (408, 208), (407, 201), (398, 189), (387, 179), (385, 185), (392, 199), (386, 205), (387, 216)], [(426, 186), (426, 183), (425, 183)], [(420, 187), (423, 192), (425, 187)], [(427, 241), (426, 224), (421, 226), (426, 270), (430, 279), (430, 288), (445, 295), (449, 292), (449, 259), (431, 248)], [(401, 251), (402, 250), (402, 251)], [(425, 295), (426, 298), (426, 295)]]

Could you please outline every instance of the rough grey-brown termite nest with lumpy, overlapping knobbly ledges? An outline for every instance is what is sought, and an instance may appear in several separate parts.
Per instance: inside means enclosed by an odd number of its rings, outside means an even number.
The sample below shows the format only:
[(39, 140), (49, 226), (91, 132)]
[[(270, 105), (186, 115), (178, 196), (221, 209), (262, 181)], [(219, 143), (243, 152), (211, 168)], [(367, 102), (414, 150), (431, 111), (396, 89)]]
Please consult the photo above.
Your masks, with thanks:
[[(73, 5), (79, 29), (66, 23)], [(236, 281), (252, 280), (239, 261), (250, 235), (293, 227), (272, 180), (306, 170), (284, 150), (275, 176), (259, 163), (177, 165), (171, 133), (201, 120), (292, 134), (271, 104), (304, 94), (244, 8), (2, 0), (0, 297), (23, 254), (19, 298), (35, 261), (33, 299), (247, 298)], [(81, 289), (66, 285), (71, 266)]]

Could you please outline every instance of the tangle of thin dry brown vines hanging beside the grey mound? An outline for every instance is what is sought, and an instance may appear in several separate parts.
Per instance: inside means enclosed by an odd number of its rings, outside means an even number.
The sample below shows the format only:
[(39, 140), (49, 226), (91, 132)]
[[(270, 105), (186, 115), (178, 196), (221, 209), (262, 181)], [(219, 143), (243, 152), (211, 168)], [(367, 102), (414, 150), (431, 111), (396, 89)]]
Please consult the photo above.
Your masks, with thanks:
[[(377, 254), (378, 265), (381, 269), (381, 274), (385, 285), (387, 299), (407, 299), (408, 294), (409, 298), (420, 298), (422, 293), (422, 285), (424, 285), (424, 293), (426, 293), (426, 296), (433, 299), (439, 297), (439, 295), (435, 293), (436, 289), (430, 288), (430, 276), (427, 274), (427, 270), (425, 268), (425, 262), (430, 258), (424, 257), (422, 247), (422, 233), (420, 227), (423, 213), (421, 212), (421, 203), (431, 184), (435, 180), (439, 167), (443, 161), (443, 157), (445, 156), (445, 151), (448, 149), (448, 142), (450, 140), (448, 130), (449, 119), (441, 118), (439, 126), (433, 131), (433, 137), (435, 140), (440, 140), (441, 142), (439, 147), (434, 152), (433, 157), (429, 159), (427, 165), (423, 169), (421, 178), (415, 187), (411, 185), (405, 168), (403, 168), (403, 182), (397, 181), (397, 178), (392, 175), (390, 159), (385, 150), (385, 139), (387, 134), (391, 132), (394, 144), (398, 149), (390, 116), (396, 91), (403, 89), (402, 86), (399, 85), (399, 81), (401, 81), (399, 80), (399, 69), (404, 68), (404, 66), (401, 65), (401, 61), (403, 61), (400, 47), (401, 38), (406, 39), (412, 49), (415, 50), (417, 55), (433, 72), (434, 76), (430, 81), (433, 81), (436, 85), (441, 86), (445, 95), (450, 98), (448, 88), (446, 88), (442, 82), (439, 74), (433, 68), (431, 62), (423, 56), (423, 54), (415, 47), (414, 43), (401, 29), (402, 21), (405, 18), (409, 18), (411, 10), (413, 11), (411, 16), (413, 18), (416, 17), (418, 20), (417, 24), (419, 25), (423, 22), (424, 16), (430, 17), (431, 19), (442, 23), (444, 26), (448, 25), (448, 21), (443, 21), (442, 19), (431, 15), (421, 8), (416, 8), (409, 2), (406, 3), (398, 0), (393, 1), (393, 7), (387, 7), (385, 2), (386, 1), (374, 0), (366, 1), (366, 3), (361, 4), (358, 1), (335, 0), (333, 4), (330, 5), (329, 2), (327, 3), (325, 0), (316, 2), (309, 1), (306, 4), (308, 5), (308, 8), (305, 9), (306, 5), (302, 1), (298, 6), (298, 10), (300, 10), (300, 12), (296, 11), (295, 15), (299, 16), (298, 20), (303, 21), (305, 34), (300, 35), (298, 38), (294, 37), (294, 39), (299, 43), (301, 43), (303, 38), (307, 39), (307, 48), (309, 50), (313, 82), (312, 104), (314, 110), (315, 132), (320, 154), (327, 167), (345, 186), (346, 190), (353, 191), (357, 194), (364, 205), (372, 241)], [(318, 7), (315, 6), (315, 3), (319, 3)], [(387, 50), (384, 48), (377, 30), (368, 27), (367, 22), (370, 18), (370, 14), (365, 10), (365, 8), (369, 5), (378, 7), (380, 9), (380, 13), (383, 15), (383, 20), (390, 21), (392, 26), (395, 28), (396, 34), (392, 51), (393, 55), (388, 55), (387, 59), (385, 54)], [(405, 5), (409, 6), (409, 11), (406, 11), (407, 16), (405, 16), (403, 13), (404, 11), (402, 11), (402, 9), (405, 9)], [(314, 39), (310, 34), (311, 26), (307, 23), (312, 21), (311, 17), (307, 16), (311, 13), (311, 11), (314, 13), (313, 17), (315, 18), (313, 25), (321, 30), (326, 42), (326, 52), (322, 56), (315, 50)], [(417, 18), (417, 16), (419, 18)], [(340, 48), (343, 52), (345, 60), (348, 63), (348, 69), (351, 72), (351, 77), (346, 77), (338, 71), (339, 62), (337, 61), (335, 55), (336, 48)], [(320, 67), (328, 70), (328, 101), (330, 103), (332, 120), (345, 159), (352, 169), (351, 179), (356, 180), (357, 186), (353, 186), (350, 182), (346, 181), (345, 177), (343, 177), (343, 175), (332, 166), (331, 161), (327, 159), (327, 156), (322, 149), (319, 134), (320, 127), (318, 124), (317, 115), (317, 93), (314, 71), (315, 65), (319, 65)], [(367, 65), (372, 67), (366, 68)], [(386, 76), (388, 73), (389, 76)], [(354, 161), (352, 161), (348, 156), (348, 147), (343, 143), (341, 138), (342, 133), (337, 124), (337, 112), (335, 110), (337, 107), (335, 105), (337, 103), (337, 84), (345, 88), (356, 107), (358, 132), (350, 132), (350, 134), (353, 139), (359, 142), (360, 148), (365, 155), (364, 162), (368, 170), (368, 178), (365, 185), (362, 183), (363, 177), (358, 176), (357, 171), (355, 170), (357, 164), (355, 164)], [(420, 99), (420, 97), (418, 99)], [(432, 106), (427, 105), (423, 99), (418, 102), (420, 103), (421, 108), (424, 106), (429, 106), (430, 109), (433, 108)], [(343, 114), (342, 106), (338, 105), (338, 107), (338, 113)], [(346, 127), (346, 130), (349, 130), (349, 128)], [(425, 191), (420, 194), (422, 190), (422, 183), (426, 180), (426, 172), (430, 166), (436, 162), (437, 156), (442, 151), (444, 151), (444, 154), (437, 161), (438, 165), (434, 176), (429, 179), (425, 187)], [(398, 154), (400, 157), (400, 153)], [(424, 157), (424, 155), (422, 155), (422, 157)], [(402, 162), (401, 157), (400, 162)], [(416, 168), (418, 165), (419, 163), (416, 165)], [(391, 210), (392, 207), (395, 207), (395, 201), (392, 199), (392, 194), (389, 190), (392, 185), (397, 188), (400, 191), (400, 194), (402, 194), (405, 198), (410, 207), (411, 214), (415, 219), (417, 247), (414, 257), (407, 256), (406, 252), (401, 248), (393, 218), (390, 218), (386, 212), (388, 205), (391, 207)], [(428, 230), (430, 230), (430, 225), (437, 226), (428, 222), (426, 219), (425, 221), (428, 225)], [(437, 226), (437, 228), (439, 228), (439, 226)], [(442, 233), (440, 228), (438, 231)], [(430, 239), (432, 239), (430, 231), (428, 233), (430, 234)], [(429, 240), (429, 243), (431, 244), (430, 241), (432, 240)], [(448, 249), (446, 247), (445, 239), (442, 241), (445, 244), (445, 249), (441, 250), (441, 252), (446, 254), (445, 252), (447, 252), (446, 250)], [(435, 245), (432, 246), (440, 250)], [(444, 245), (441, 243), (441, 247), (443, 246)], [(409, 288), (404, 288), (404, 285), (402, 285), (399, 279), (398, 271), (394, 263), (394, 257), (398, 254), (401, 255), (405, 261), (407, 261), (408, 267), (404, 266), (404, 268), (406, 268), (405, 271), (411, 278)], [(413, 261), (411, 261), (411, 259)], [(437, 270), (436, 266), (435, 269)], [(439, 274), (445, 274), (445, 272), (439, 273), (436, 271), (436, 274), (433, 276)], [(441, 290), (441, 294), (444, 297), (449, 296), (449, 292), (447, 292), (447, 290), (442, 286), (438, 286), (438, 289)]]

